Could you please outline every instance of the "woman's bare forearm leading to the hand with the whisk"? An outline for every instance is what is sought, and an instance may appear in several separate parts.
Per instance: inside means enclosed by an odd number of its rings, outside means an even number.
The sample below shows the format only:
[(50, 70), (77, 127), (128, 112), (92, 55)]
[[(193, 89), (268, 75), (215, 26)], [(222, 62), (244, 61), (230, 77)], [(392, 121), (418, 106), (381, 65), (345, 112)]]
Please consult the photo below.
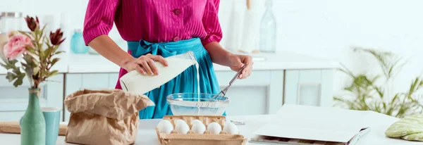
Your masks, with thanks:
[(213, 63), (217, 63), (223, 66), (230, 66), (227, 59), (232, 55), (231, 52), (226, 51), (218, 42), (210, 42), (205, 45), (204, 48), (209, 52)]

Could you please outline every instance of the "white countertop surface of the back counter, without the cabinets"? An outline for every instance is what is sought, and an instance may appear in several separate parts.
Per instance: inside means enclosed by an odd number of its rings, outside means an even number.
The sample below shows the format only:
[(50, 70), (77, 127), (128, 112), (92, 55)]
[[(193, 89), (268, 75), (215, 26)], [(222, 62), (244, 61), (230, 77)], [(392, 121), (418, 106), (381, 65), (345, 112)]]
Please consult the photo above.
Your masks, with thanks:
[[(325, 69), (338, 68), (338, 62), (305, 56), (292, 52), (253, 53), (255, 61), (253, 70), (292, 70), (292, 69)], [(66, 54), (60, 56), (61, 61), (55, 65), (60, 73), (118, 73), (119, 67), (106, 58), (90, 54)], [(228, 67), (214, 64), (214, 70), (226, 71)], [(6, 74), (0, 68), (0, 74)]]

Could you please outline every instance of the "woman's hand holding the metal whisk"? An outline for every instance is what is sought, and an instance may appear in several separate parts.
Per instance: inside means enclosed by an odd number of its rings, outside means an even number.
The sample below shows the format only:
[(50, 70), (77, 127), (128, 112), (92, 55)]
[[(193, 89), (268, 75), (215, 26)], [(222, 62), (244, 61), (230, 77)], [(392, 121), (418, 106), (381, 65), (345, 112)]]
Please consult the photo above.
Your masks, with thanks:
[(243, 72), (238, 75), (238, 79), (245, 79), (250, 76), (252, 70), (252, 57), (251, 56), (244, 56), (244, 55), (235, 55), (231, 54), (228, 56), (228, 61), (230, 64), (231, 70), (238, 72), (244, 65), (247, 65)]

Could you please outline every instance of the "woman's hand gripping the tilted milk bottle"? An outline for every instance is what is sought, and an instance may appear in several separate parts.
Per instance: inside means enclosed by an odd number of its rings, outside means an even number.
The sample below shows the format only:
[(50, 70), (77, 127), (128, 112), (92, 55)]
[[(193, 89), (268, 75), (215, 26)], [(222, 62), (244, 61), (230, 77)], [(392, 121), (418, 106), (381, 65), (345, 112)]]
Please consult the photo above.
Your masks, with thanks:
[(159, 70), (157, 66), (154, 65), (154, 61), (159, 61), (161, 64), (168, 66), (168, 62), (162, 56), (146, 54), (140, 56), (139, 58), (133, 58), (132, 61), (129, 61), (125, 64), (125, 70), (138, 70), (142, 75), (159, 75)]

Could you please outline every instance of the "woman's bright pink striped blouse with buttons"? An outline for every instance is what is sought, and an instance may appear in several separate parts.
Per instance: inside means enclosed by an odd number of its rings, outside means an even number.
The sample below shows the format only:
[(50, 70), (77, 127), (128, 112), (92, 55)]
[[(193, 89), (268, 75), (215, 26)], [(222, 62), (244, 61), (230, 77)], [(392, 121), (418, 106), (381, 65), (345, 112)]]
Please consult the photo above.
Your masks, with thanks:
[(90, 0), (84, 40), (109, 34), (113, 24), (125, 41), (177, 42), (200, 37), (202, 44), (220, 42), (220, 0)]

